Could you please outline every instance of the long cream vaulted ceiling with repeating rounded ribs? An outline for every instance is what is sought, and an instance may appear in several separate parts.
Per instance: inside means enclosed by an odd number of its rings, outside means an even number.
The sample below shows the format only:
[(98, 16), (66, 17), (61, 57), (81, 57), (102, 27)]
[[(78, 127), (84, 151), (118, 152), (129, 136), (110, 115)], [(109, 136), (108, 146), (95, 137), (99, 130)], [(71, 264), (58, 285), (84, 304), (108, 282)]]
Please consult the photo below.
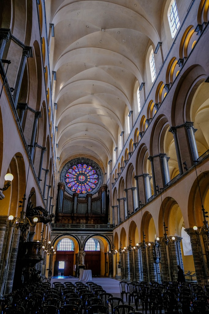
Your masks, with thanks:
[(55, 30), (50, 59), (62, 161), (85, 155), (105, 169), (112, 159), (125, 110), (133, 110), (134, 82), (144, 82), (147, 47), (160, 41), (163, 3), (50, 1), (46, 14)]

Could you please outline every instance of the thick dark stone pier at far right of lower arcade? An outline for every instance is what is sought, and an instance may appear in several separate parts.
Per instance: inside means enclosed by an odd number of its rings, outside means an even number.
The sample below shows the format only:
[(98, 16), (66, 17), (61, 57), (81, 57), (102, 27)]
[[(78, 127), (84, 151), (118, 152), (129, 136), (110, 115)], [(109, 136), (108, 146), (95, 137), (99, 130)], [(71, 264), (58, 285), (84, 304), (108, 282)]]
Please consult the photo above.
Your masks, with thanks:
[(207, 285), (207, 279), (209, 279), (209, 247), (207, 236), (197, 234), (200, 231), (200, 227), (198, 227), (197, 232), (193, 228), (185, 229), (185, 231), (190, 236), (197, 282), (202, 286)]

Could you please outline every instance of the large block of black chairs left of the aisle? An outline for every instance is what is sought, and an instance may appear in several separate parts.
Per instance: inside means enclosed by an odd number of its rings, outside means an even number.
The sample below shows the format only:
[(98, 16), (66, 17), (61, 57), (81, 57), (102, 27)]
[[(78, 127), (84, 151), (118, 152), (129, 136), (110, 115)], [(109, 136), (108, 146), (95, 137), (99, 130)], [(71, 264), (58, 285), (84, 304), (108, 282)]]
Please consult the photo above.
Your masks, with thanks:
[[(69, 292), (70, 293), (67, 293)], [(15, 291), (0, 300), (1, 314), (126, 314), (134, 312), (132, 306), (124, 305), (121, 298), (93, 282), (74, 285), (70, 282), (60, 284), (43, 283), (30, 285)]]

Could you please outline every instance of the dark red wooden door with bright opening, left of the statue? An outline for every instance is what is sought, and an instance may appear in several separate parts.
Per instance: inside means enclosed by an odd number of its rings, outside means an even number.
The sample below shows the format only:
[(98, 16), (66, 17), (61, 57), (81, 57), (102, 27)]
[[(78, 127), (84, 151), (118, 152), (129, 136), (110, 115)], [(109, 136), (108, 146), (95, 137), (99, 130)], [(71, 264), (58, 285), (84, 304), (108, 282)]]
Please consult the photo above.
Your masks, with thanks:
[(74, 251), (57, 251), (54, 268), (54, 276), (58, 276), (59, 262), (65, 262), (63, 276), (73, 276)]

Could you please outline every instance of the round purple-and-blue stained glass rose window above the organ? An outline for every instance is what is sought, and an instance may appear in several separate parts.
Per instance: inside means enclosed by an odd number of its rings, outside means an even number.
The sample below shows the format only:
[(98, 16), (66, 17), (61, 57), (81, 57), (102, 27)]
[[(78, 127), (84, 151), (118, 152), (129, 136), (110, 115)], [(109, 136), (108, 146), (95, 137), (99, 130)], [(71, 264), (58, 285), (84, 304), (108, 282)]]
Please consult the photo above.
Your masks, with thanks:
[(98, 174), (90, 165), (73, 165), (65, 173), (65, 183), (72, 192), (86, 194), (97, 186)]

